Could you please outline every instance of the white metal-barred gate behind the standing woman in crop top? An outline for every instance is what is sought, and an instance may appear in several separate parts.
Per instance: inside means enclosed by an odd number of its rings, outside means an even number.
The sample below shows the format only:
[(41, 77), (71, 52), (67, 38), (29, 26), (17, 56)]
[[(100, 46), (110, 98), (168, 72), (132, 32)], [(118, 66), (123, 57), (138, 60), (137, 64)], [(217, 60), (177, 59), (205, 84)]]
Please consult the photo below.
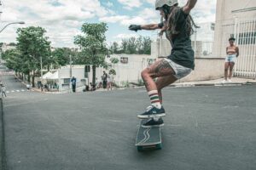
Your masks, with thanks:
[(219, 44), (217, 56), (226, 56), (226, 47), (229, 46), (228, 39), (236, 38), (239, 48), (239, 57), (234, 68), (235, 77), (256, 77), (256, 19), (251, 20), (222, 20), (216, 39)]

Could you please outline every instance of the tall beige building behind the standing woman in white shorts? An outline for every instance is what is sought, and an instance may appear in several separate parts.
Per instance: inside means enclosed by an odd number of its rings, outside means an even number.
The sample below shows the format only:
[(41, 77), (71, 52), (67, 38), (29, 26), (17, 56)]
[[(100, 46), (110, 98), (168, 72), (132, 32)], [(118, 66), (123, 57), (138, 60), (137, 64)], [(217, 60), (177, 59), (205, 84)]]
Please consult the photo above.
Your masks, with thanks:
[(229, 37), (236, 38), (240, 56), (235, 76), (256, 77), (256, 1), (217, 0), (213, 55), (226, 56)]

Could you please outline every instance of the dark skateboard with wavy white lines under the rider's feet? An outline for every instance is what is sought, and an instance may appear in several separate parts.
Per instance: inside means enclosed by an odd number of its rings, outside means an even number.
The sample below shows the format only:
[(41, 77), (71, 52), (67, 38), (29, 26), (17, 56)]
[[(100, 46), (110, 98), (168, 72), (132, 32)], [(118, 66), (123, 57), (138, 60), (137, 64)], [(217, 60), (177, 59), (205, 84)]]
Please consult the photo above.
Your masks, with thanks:
[(138, 127), (135, 144), (137, 150), (160, 150), (162, 148), (160, 127), (142, 127), (147, 121), (148, 119), (143, 119)]

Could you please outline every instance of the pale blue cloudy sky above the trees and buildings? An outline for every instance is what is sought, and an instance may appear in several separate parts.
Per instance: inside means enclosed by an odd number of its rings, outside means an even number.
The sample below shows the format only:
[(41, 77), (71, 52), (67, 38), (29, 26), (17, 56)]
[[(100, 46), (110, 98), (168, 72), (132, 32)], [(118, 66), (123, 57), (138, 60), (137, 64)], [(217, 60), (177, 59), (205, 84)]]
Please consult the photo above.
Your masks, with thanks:
[[(214, 22), (217, 0), (198, 0), (191, 15), (196, 24)], [(41, 26), (55, 48), (75, 47), (73, 37), (81, 34), (86, 23), (106, 22), (107, 42), (123, 38), (156, 37), (155, 31), (129, 31), (131, 24), (143, 25), (160, 22), (155, 0), (0, 0), (0, 29), (10, 22), (24, 21), (25, 25), (11, 25), (0, 33), (0, 42), (15, 42), (18, 27)], [(178, 0), (184, 6), (187, 0)]]

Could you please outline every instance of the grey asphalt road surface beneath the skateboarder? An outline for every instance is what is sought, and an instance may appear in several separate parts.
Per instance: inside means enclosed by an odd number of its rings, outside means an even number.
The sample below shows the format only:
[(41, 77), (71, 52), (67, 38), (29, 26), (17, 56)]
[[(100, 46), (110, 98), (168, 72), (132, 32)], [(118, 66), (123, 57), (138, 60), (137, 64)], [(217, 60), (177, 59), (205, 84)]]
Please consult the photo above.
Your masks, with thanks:
[[(13, 82), (12, 82), (13, 81)], [(19, 87), (20, 82), (8, 78)], [(17, 83), (17, 84), (15, 84)], [(163, 148), (137, 152), (144, 88), (3, 99), (12, 170), (256, 169), (256, 86), (166, 88)]]

